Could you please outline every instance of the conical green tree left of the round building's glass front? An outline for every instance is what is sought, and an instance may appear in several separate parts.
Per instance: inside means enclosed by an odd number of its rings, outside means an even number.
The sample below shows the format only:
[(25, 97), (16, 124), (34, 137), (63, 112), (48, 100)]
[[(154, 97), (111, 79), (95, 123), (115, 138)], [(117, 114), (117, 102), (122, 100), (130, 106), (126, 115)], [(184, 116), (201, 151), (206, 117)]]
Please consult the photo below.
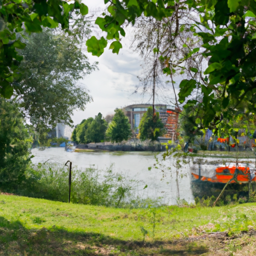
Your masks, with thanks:
[(114, 112), (113, 120), (106, 130), (106, 138), (115, 142), (127, 140), (131, 136), (129, 119), (124, 115), (122, 109), (116, 108)]

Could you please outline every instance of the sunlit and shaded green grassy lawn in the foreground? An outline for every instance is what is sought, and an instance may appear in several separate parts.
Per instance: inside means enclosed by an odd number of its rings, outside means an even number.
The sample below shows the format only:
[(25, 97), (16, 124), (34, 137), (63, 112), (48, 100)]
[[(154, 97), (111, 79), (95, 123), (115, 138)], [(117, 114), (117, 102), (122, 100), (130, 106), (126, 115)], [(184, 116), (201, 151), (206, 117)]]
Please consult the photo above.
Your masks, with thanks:
[(256, 255), (255, 220), (256, 203), (116, 209), (1, 194), (0, 255)]

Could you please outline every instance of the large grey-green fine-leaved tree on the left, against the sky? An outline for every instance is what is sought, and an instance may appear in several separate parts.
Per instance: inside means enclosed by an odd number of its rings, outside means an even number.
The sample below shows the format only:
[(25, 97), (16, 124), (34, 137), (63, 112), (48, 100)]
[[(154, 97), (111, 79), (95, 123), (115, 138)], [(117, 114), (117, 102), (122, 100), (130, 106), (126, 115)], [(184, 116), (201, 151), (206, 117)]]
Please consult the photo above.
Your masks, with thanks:
[(94, 70), (95, 64), (90, 65), (78, 42), (62, 32), (53, 34), (44, 29), (25, 42), (19, 66), (22, 111), (37, 131), (57, 122), (72, 125), (73, 110), (83, 110), (90, 99), (77, 82)]

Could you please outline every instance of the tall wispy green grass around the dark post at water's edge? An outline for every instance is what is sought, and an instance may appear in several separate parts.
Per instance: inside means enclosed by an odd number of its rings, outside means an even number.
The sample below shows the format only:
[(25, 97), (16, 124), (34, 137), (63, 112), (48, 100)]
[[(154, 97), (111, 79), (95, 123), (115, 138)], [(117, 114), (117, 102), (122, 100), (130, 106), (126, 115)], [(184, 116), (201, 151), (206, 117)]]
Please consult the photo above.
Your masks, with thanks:
[[(55, 163), (33, 165), (26, 172), (30, 184), (22, 194), (57, 201), (68, 200), (68, 169)], [(135, 187), (138, 181), (112, 171), (112, 165), (104, 170), (93, 166), (72, 169), (71, 198), (73, 203), (123, 207), (131, 201), (135, 204)], [(133, 200), (131, 200), (133, 198)], [(138, 199), (138, 198), (136, 198)]]

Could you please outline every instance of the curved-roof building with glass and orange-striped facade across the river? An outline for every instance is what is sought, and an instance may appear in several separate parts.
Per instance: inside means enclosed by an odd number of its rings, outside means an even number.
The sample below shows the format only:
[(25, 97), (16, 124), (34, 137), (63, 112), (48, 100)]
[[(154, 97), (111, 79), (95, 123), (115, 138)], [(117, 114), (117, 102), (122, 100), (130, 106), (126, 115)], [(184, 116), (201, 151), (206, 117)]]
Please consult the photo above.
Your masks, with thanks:
[[(130, 128), (132, 130), (138, 127), (142, 115), (146, 112), (149, 106), (152, 106), (152, 104), (132, 104), (122, 108), (124, 114), (129, 118)], [(164, 104), (155, 104), (154, 109), (156, 112), (159, 112), (159, 117), (165, 126), (166, 132), (164, 137), (174, 140), (177, 139), (177, 112), (179, 112), (180, 109), (175, 106)]]

